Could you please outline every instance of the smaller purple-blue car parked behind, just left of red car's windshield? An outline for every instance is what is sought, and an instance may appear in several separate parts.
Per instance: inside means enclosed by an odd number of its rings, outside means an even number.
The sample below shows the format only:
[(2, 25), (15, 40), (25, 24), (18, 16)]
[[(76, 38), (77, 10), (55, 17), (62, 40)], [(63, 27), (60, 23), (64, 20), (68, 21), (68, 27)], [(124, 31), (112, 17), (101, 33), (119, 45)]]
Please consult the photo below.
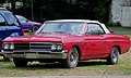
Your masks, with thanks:
[(24, 29), (36, 31), (41, 26), (41, 23), (32, 22), (22, 15), (15, 15), (15, 16), (19, 18)]

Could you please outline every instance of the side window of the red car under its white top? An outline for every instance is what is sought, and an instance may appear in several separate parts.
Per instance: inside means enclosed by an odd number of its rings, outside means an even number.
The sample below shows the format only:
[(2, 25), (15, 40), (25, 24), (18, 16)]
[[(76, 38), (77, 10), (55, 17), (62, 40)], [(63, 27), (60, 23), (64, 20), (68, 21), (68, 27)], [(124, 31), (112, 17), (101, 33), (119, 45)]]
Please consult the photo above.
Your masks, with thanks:
[(104, 29), (100, 27), (100, 25), (98, 24), (87, 24), (87, 34), (92, 34), (92, 35), (104, 35), (105, 31)]

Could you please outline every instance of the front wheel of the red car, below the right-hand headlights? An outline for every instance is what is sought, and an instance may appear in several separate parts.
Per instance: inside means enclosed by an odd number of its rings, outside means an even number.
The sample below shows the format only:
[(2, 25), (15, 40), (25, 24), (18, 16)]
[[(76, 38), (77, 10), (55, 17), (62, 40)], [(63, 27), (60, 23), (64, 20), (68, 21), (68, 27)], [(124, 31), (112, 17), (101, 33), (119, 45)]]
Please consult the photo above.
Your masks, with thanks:
[(68, 55), (68, 58), (64, 62), (64, 66), (68, 68), (76, 67), (79, 62), (79, 52), (75, 47), (70, 49), (70, 53)]

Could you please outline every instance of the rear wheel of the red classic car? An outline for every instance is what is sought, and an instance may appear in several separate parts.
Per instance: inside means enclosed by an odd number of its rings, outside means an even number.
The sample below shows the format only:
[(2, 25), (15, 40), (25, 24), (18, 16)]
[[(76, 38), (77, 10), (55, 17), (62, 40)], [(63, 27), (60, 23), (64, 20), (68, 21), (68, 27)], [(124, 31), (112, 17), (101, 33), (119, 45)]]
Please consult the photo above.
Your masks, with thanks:
[(119, 51), (117, 47), (112, 47), (109, 56), (107, 57), (107, 63), (109, 65), (116, 65), (119, 58)]

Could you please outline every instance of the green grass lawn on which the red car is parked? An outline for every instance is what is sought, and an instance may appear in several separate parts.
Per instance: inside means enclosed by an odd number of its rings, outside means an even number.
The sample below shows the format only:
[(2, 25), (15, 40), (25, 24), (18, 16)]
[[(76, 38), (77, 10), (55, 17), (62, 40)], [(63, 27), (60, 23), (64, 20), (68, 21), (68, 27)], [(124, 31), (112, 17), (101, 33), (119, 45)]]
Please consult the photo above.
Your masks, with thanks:
[[(127, 35), (130, 32), (116, 32)], [(76, 68), (63, 68), (59, 64), (29, 63), (27, 67), (15, 67), (12, 62), (3, 62), (0, 56), (0, 77), (36, 76), (81, 76), (81, 75), (131, 75), (131, 50), (121, 55), (117, 65), (107, 65), (106, 61), (93, 60), (79, 63)]]

